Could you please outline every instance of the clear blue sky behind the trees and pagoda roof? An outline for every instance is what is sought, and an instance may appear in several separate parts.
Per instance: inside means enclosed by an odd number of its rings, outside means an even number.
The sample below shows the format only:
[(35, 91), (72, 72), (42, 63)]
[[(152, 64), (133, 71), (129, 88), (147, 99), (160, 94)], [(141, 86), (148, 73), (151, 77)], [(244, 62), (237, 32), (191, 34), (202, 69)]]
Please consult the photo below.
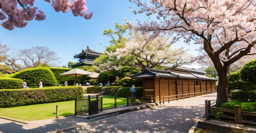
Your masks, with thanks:
[[(134, 15), (128, 7), (136, 10), (136, 5), (128, 0), (87, 0), (89, 12), (94, 13), (90, 20), (74, 17), (70, 10), (66, 13), (55, 12), (50, 3), (43, 0), (35, 0), (34, 5), (45, 12), (46, 19), (28, 21), (26, 27), (12, 31), (0, 26), (0, 40), (2, 44), (18, 50), (46, 46), (61, 56), (60, 66), (66, 65), (68, 61), (76, 62), (73, 55), (79, 54), (87, 45), (93, 50), (103, 52), (104, 47), (99, 44), (109, 45), (109, 38), (102, 35), (104, 29), (113, 29), (116, 22), (125, 24), (125, 17), (133, 23), (136, 23), (136, 18), (141, 21), (147, 19), (144, 14)], [(185, 46), (191, 49), (190, 54), (198, 54), (194, 50), (198, 46), (184, 44), (182, 40), (175, 46)]]

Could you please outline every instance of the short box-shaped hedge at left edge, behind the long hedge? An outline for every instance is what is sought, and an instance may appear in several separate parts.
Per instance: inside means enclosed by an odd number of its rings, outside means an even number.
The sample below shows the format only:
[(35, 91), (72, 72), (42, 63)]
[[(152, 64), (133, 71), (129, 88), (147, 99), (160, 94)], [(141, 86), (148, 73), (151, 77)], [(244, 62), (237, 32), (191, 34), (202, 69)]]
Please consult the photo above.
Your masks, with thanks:
[(0, 89), (22, 88), (23, 81), (17, 78), (0, 78)]

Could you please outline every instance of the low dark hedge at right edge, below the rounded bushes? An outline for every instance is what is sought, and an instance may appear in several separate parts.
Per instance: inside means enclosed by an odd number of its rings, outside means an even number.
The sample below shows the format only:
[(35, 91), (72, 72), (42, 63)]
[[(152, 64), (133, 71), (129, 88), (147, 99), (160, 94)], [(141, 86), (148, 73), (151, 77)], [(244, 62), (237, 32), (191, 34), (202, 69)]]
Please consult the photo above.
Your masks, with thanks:
[(256, 91), (232, 91), (229, 93), (228, 98), (231, 100), (256, 102)]

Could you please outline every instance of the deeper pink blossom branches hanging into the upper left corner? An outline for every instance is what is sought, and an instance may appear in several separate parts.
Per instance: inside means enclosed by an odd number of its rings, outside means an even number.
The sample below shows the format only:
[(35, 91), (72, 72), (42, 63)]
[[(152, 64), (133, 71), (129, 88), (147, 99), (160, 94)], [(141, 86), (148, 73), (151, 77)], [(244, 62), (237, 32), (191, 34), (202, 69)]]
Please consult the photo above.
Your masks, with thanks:
[[(50, 3), (56, 12), (71, 10), (73, 15), (90, 19), (93, 12), (87, 13), (88, 9), (85, 6), (85, 0), (45, 0)], [(14, 27), (23, 28), (27, 25), (27, 21), (33, 19), (41, 21), (46, 19), (43, 11), (38, 10), (34, 6), (35, 0), (0, 0), (0, 20), (1, 26), (8, 30), (13, 30)]]

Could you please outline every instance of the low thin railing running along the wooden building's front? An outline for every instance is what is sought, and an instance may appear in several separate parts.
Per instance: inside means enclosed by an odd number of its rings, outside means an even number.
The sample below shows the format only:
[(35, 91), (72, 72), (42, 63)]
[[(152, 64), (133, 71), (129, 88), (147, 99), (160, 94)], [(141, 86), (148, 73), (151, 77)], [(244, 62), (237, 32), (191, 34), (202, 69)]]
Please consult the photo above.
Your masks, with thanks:
[[(146, 101), (151, 101), (151, 103), (153, 103), (154, 101), (156, 101), (156, 100), (154, 100), (154, 99), (156, 99), (156, 98), (159, 98), (159, 103), (160, 103), (160, 105), (161, 105), (161, 99), (163, 99), (163, 104), (165, 104), (165, 99), (168, 99), (168, 103), (170, 103), (170, 101), (173, 101), (173, 100), (177, 100), (178, 101), (178, 99), (181, 99), (181, 98), (183, 98), (183, 100), (184, 100), (184, 98), (187, 98), (187, 97), (197, 97), (197, 95), (196, 94), (201, 94), (201, 97), (202, 97), (202, 93), (211, 93), (211, 94), (213, 94), (213, 93), (217, 93), (217, 91), (216, 90), (214, 90), (214, 91), (208, 91), (208, 92), (197, 92), (197, 93), (186, 93), (186, 94), (179, 94), (179, 95), (171, 95), (171, 96), (164, 96), (164, 95), (161, 95), (160, 97), (158, 96), (158, 97), (153, 97), (153, 95), (146, 95), (146, 96), (150, 96), (150, 97), (141, 97), (141, 102), (143, 102), (143, 99), (146, 99)], [(195, 94), (194, 96), (191, 96), (191, 94)], [(187, 96), (187, 97), (184, 97), (184, 95), (189, 95), (189, 96)], [(176, 96), (176, 98), (173, 98), (173, 99), (170, 99), (170, 97), (173, 97), (173, 96)], [(182, 97), (178, 97), (178, 96), (182, 96)], [(168, 97), (168, 98), (167, 98)]]

